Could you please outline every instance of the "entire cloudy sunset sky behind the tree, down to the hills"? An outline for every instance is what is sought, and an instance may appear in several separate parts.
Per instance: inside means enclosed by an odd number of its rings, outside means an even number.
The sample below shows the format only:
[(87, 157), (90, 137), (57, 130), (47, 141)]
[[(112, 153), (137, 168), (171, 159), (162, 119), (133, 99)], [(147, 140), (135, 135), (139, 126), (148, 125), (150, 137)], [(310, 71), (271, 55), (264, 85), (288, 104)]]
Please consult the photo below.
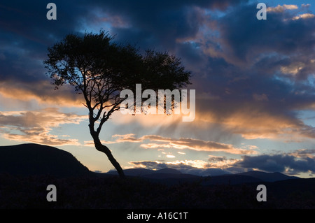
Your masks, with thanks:
[[(47, 20), (47, 4), (57, 20)], [(267, 20), (258, 20), (259, 2)], [(92, 144), (88, 110), (73, 88), (54, 90), (43, 60), (66, 34), (115, 35), (168, 51), (192, 72), (193, 122), (123, 115), (100, 138), (123, 168), (216, 175), (249, 170), (315, 174), (315, 2), (1, 1), (0, 145), (40, 143), (91, 171), (113, 169)]]

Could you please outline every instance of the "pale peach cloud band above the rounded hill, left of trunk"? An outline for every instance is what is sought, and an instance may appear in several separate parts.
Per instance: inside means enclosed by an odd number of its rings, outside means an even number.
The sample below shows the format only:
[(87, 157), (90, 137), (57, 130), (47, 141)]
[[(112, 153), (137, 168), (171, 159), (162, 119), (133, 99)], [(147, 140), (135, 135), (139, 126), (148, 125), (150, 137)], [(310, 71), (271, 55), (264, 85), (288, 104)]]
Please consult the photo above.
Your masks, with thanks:
[(57, 108), (33, 111), (0, 112), (3, 138), (45, 145), (79, 145), (77, 139), (51, 134), (53, 128), (62, 124), (79, 124), (85, 115), (61, 113)]

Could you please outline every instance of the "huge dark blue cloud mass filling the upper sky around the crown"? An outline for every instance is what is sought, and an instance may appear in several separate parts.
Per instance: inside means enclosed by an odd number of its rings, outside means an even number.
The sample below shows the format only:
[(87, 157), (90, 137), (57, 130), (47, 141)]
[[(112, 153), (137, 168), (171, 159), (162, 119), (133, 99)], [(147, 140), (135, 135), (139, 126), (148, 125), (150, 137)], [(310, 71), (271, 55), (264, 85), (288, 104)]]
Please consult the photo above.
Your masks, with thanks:
[[(256, 4), (247, 1), (82, 0), (54, 1), (57, 20), (49, 21), (48, 2), (0, 3), (1, 89), (23, 82), (17, 86), (25, 94), (45, 97), (49, 91), (34, 86), (50, 81), (42, 64), (48, 46), (111, 24), (116, 41), (182, 58), (193, 71), (204, 120), (228, 124), (228, 131), (247, 138), (296, 132), (314, 138), (314, 128), (297, 118), (315, 104), (314, 83), (306, 81), (315, 69), (314, 17), (293, 20), (294, 12), (283, 9), (257, 20)], [(220, 17), (211, 14), (217, 9)]]

